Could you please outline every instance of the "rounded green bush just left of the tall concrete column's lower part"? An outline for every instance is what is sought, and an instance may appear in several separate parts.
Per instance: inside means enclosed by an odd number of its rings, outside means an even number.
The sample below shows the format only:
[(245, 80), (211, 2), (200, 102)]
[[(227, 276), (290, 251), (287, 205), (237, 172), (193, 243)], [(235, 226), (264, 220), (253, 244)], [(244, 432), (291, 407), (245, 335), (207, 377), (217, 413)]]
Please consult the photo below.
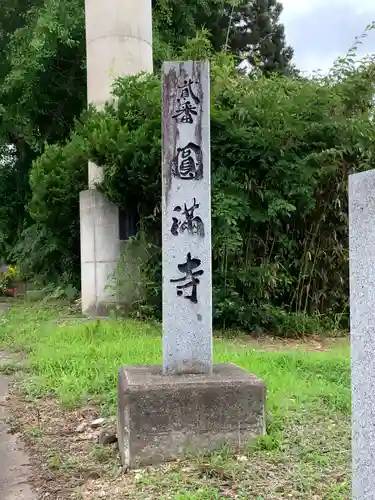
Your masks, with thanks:
[(80, 127), (65, 145), (46, 146), (30, 172), (27, 227), (13, 250), (22, 273), (79, 288), (79, 193), (87, 186), (87, 153)]

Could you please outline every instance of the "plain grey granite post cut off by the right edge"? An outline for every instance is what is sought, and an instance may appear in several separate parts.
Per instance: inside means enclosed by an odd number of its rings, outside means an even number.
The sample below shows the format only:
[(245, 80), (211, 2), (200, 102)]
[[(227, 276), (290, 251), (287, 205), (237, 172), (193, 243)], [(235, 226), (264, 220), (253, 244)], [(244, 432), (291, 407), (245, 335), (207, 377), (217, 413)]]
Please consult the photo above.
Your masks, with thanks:
[(375, 499), (375, 170), (349, 177), (353, 499)]

